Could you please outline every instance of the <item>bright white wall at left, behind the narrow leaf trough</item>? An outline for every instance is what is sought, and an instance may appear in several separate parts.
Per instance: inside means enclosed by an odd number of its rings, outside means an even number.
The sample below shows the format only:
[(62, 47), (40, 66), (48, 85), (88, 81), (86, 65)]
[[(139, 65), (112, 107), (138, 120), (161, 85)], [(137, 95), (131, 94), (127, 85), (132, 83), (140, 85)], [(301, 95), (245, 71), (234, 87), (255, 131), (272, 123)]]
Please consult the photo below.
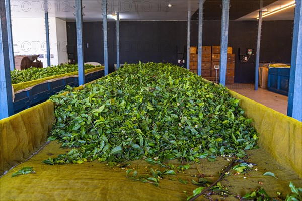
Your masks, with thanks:
[[(39, 58), (39, 60), (43, 62), (43, 67), (47, 67), (45, 19), (12, 18), (12, 31), (14, 54), (43, 55), (44, 58)], [(49, 18), (49, 40), (51, 65), (66, 63), (67, 32), (65, 21)]]

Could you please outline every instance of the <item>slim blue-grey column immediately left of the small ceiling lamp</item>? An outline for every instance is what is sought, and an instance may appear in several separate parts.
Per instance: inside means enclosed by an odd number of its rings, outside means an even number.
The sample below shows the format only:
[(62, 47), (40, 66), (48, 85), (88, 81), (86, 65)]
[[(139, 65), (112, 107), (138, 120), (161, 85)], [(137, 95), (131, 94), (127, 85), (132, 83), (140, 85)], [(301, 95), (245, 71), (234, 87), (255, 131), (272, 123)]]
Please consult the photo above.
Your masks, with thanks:
[(103, 33), (104, 33), (104, 64), (105, 76), (108, 75), (108, 37), (107, 37), (107, 0), (103, 0)]

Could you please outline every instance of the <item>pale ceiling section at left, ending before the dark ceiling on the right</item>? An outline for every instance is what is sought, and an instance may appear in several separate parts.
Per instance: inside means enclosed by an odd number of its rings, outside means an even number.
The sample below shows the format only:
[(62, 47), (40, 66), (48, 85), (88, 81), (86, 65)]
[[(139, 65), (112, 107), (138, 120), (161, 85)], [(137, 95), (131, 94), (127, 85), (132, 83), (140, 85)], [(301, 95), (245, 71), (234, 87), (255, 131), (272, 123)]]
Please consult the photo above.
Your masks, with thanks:
[[(12, 0), (12, 17), (44, 17), (44, 6), (49, 5), (49, 17), (58, 17), (66, 21), (75, 21), (75, 0), (48, 0), (48, 1), (24, 1), (38, 2), (22, 3), (22, 1)], [(20, 3), (21, 2), (21, 3)], [(83, 0), (84, 21), (101, 21), (102, 0)], [(168, 7), (168, 4), (171, 7)], [(19, 6), (13, 6), (18, 5)], [(110, 14), (120, 11), (122, 21), (152, 21), (152, 20), (186, 20), (188, 8), (192, 11), (198, 9), (198, 0), (141, 0), (141, 1), (107, 1), (108, 19), (114, 20)], [(30, 8), (30, 9), (29, 9)], [(43, 8), (43, 9), (42, 9)]]

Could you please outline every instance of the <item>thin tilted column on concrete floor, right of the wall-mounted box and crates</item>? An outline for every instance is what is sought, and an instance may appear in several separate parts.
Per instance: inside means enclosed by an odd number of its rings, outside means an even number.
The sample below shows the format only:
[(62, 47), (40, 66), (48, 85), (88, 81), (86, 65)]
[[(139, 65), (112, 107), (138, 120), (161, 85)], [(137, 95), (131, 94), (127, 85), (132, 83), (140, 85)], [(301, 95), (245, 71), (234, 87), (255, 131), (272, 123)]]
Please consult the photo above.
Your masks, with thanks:
[(259, 20), (258, 20), (258, 34), (257, 34), (257, 48), (256, 48), (256, 63), (255, 63), (255, 91), (258, 90), (259, 82), (259, 62), (260, 62), (260, 43), (261, 43), (261, 29), (262, 29), (262, 7), (263, 2), (260, 0)]

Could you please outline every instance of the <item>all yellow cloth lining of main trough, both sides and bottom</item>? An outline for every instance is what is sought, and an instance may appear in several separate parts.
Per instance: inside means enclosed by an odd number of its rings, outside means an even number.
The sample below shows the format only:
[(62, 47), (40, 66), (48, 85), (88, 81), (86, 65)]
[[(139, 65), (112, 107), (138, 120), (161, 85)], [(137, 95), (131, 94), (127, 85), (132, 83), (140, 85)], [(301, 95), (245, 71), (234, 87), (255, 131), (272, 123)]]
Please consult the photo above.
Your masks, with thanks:
[[(75, 88), (82, 89), (83, 86)], [(245, 110), (245, 115), (254, 119), (254, 126), (260, 133), (261, 148), (247, 151), (250, 161), (258, 164), (253, 168), (258, 168), (257, 172), (250, 172), (246, 179), (243, 175), (231, 174), (222, 184), (233, 193), (241, 195), (247, 193), (249, 188), (261, 186), (272, 197), (277, 196), (277, 191), (281, 191), (283, 196), (289, 193), (290, 181), (296, 186), (301, 186), (301, 122), (233, 91), (230, 91), (230, 94), (240, 99), (239, 104)], [(54, 105), (49, 100), (0, 120), (1, 170), (23, 161), (36, 151), (45, 142), (53, 122)], [(191, 168), (184, 173), (176, 171), (177, 176), (165, 176), (159, 182), (160, 187), (156, 188), (151, 184), (127, 179), (126, 170), (119, 167), (109, 168), (106, 162), (53, 166), (43, 164), (42, 160), (67, 151), (59, 146), (60, 144), (51, 142), (39, 154), (3, 176), (0, 179), (0, 200), (185, 200), (183, 190), (192, 194), (193, 189), (198, 187), (191, 184), (192, 178), (197, 180), (191, 175), (206, 174), (208, 180), (214, 181), (218, 178), (218, 171), (228, 164), (221, 157), (218, 157), (216, 162), (202, 159), (201, 164), (190, 163)], [(180, 164), (177, 161), (172, 163)], [(34, 167), (36, 174), (11, 178), (14, 171), (25, 166)], [(144, 161), (132, 161), (130, 167), (137, 169), (139, 174), (146, 174), (149, 168), (160, 168), (150, 166)], [(267, 171), (273, 172), (278, 179), (263, 176)], [(187, 180), (188, 184), (180, 183), (179, 178)], [(213, 198), (219, 199), (219, 196)], [(227, 200), (235, 199), (228, 197)]]

